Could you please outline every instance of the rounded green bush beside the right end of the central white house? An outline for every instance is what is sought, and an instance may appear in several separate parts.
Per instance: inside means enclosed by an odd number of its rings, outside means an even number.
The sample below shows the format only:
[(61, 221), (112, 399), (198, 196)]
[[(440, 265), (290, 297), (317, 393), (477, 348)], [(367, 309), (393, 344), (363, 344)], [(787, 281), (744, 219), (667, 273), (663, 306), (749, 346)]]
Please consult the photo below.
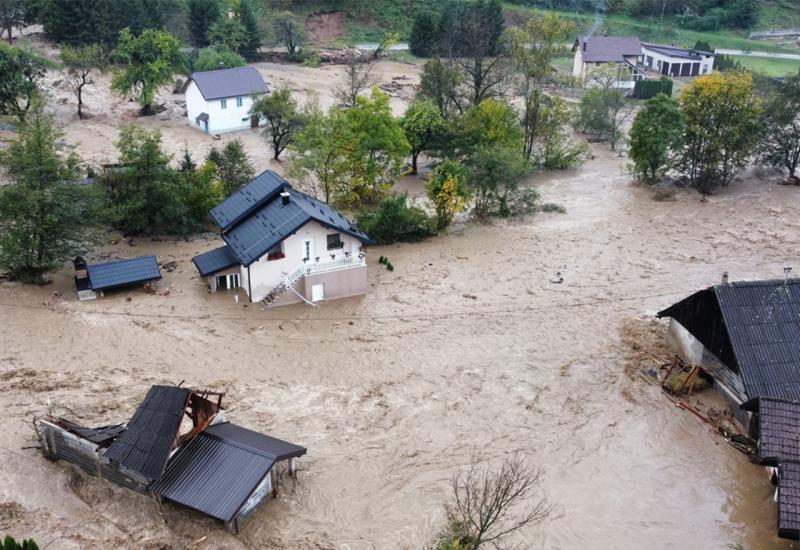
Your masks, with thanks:
[[(424, 210), (408, 204), (408, 197), (393, 194), (376, 208), (362, 209), (356, 218), (359, 228), (378, 244), (416, 242), (434, 235), (434, 221)], [(388, 268), (389, 261), (386, 261)]]

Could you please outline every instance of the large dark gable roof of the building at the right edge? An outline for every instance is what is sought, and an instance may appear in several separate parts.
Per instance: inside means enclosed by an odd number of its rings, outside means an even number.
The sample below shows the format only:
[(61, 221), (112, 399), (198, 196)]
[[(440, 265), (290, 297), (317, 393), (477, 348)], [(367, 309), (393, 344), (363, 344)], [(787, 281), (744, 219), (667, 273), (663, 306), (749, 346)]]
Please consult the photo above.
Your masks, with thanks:
[[(658, 313), (689, 329), (706, 347), (711, 337), (698, 328), (698, 306), (716, 302), (725, 333), (717, 335), (717, 357), (740, 373), (749, 399), (800, 401), (800, 279), (745, 281), (700, 291)], [(708, 311), (714, 311), (708, 309)], [(714, 319), (701, 320), (710, 325)]]

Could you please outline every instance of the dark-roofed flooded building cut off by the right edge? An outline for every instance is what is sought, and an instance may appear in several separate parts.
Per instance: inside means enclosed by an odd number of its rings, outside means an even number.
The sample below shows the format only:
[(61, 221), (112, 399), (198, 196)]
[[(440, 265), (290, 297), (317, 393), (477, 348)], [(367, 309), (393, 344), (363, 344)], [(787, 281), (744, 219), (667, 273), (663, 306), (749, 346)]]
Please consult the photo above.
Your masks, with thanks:
[[(788, 275), (788, 272), (787, 272)], [(776, 484), (778, 534), (800, 538), (800, 279), (723, 282), (658, 313), (681, 368), (701, 371)]]

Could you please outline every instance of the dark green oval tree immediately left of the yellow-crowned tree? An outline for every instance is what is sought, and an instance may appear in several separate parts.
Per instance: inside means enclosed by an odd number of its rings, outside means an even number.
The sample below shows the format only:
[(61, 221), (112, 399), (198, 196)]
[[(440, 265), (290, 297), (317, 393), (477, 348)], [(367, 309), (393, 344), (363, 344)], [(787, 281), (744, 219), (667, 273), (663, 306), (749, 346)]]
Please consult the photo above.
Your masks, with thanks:
[(685, 121), (678, 102), (665, 94), (648, 99), (631, 126), (628, 155), (634, 173), (655, 183), (673, 164), (683, 147)]

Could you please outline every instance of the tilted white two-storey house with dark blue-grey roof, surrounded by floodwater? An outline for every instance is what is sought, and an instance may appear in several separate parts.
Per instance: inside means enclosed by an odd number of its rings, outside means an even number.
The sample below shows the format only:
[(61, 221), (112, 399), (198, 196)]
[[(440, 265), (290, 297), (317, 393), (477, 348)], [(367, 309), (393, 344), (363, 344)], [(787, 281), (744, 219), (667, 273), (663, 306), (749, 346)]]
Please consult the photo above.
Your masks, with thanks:
[(252, 302), (284, 305), (364, 294), (364, 246), (344, 216), (267, 170), (211, 210), (225, 246), (194, 262), (212, 292), (241, 288)]

